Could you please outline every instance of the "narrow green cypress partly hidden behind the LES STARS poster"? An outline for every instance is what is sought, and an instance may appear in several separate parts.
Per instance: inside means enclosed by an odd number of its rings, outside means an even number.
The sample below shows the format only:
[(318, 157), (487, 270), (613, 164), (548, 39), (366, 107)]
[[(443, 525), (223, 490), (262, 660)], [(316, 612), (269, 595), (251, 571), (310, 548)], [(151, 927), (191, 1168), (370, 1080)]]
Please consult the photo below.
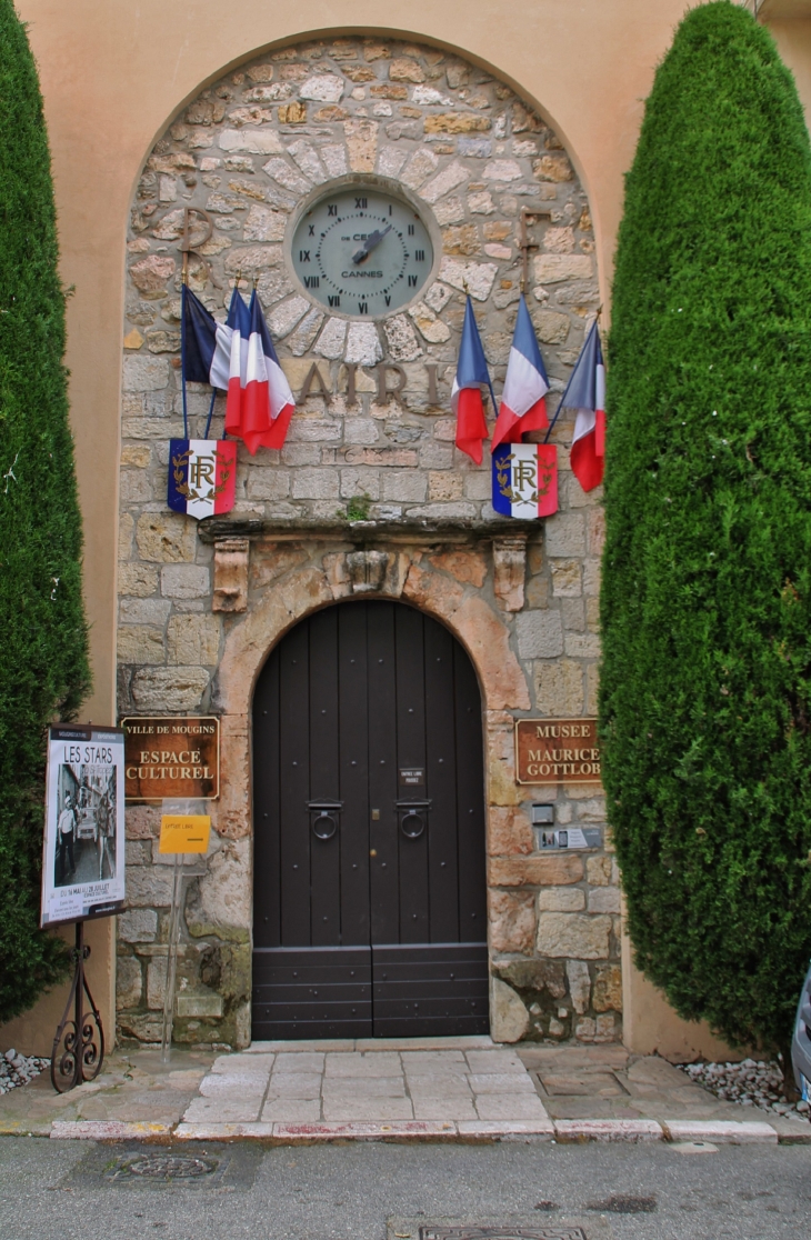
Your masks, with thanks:
[(89, 671), (64, 291), (36, 66), (0, 0), (0, 1021), (66, 970), (38, 929), (46, 727)]

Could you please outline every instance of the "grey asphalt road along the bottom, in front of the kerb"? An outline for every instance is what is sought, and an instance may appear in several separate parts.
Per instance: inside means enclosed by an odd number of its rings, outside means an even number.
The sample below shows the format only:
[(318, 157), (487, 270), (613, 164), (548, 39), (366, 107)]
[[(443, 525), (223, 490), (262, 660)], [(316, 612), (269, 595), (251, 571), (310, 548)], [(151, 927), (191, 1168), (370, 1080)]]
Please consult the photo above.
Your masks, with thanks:
[[(208, 1172), (184, 1184), (128, 1171), (172, 1152), (202, 1158)], [(611, 1198), (619, 1210), (608, 1208)], [(0, 1138), (1, 1240), (386, 1240), (392, 1216), (413, 1220), (414, 1240), (418, 1225), (437, 1219), (561, 1229), (570, 1216), (587, 1240), (809, 1240), (811, 1147), (167, 1149)], [(396, 1234), (408, 1235), (408, 1224)]]

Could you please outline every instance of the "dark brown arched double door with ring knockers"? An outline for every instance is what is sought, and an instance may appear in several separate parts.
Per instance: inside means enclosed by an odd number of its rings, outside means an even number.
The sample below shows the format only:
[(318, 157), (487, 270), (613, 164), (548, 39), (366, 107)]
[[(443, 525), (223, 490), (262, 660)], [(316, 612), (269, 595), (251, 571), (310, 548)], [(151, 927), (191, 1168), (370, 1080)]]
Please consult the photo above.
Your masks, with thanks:
[(253, 1037), (487, 1032), (481, 698), (401, 603), (301, 621), (254, 694)]

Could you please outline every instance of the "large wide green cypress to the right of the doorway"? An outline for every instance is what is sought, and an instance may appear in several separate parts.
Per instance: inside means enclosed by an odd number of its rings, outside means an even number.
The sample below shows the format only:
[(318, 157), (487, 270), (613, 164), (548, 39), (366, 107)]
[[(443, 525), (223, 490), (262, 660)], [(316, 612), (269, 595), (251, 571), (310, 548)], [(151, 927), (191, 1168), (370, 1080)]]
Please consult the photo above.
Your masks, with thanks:
[(811, 951), (811, 154), (771, 36), (687, 15), (626, 181), (600, 730), (636, 959), (787, 1048)]

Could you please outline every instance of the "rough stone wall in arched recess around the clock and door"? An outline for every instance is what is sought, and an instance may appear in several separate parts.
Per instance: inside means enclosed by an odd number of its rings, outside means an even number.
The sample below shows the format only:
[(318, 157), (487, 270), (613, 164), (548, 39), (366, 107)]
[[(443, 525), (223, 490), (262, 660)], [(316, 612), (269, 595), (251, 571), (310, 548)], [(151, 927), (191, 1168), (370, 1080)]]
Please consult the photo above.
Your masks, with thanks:
[[(382, 324), (327, 315), (285, 258), (301, 196), (351, 171), (415, 195), (441, 237), (437, 278), (417, 304)], [(215, 219), (202, 257), (191, 258), (192, 288), (222, 316), (236, 279), (246, 295), (257, 280), (299, 397), (281, 451), (250, 458), (239, 446), (232, 518), (253, 522), (254, 537), (247, 554), (231, 557), (237, 575), (241, 557), (246, 570), (249, 563), (237, 610), (234, 595), (215, 593), (215, 560), (221, 575), (228, 570), (223, 549), (165, 505), (169, 439), (182, 435), (177, 242), (185, 206)], [(433, 48), (377, 40), (285, 48), (203, 91), (148, 160), (128, 241), (119, 711), (215, 711), (223, 729), (212, 844), (188, 868), (176, 1025), (184, 1040), (249, 1038), (250, 691), (290, 624), (368, 588), (356, 579), (361, 525), (350, 525), (347, 506), (351, 517), (366, 518), (362, 547), (386, 560), (374, 593), (439, 616), (479, 671), (495, 1032), (584, 1042), (619, 1035), (616, 867), (608, 849), (534, 851), (528, 805), (551, 797), (515, 782), (512, 748), (515, 718), (595, 711), (599, 492), (584, 495), (568, 469), (567, 413), (554, 434), (561, 511), (528, 546), (508, 544), (494, 523), (489, 460), (479, 469), (453, 443), (449, 394), (464, 289), (499, 393), (518, 298), (522, 206), (537, 212), (528, 226), (537, 247), (528, 300), (553, 393), (561, 393), (596, 309), (588, 205), (554, 134), (480, 69)], [(399, 398), (386, 393), (397, 372), (381, 363), (404, 373)], [(308, 377), (310, 394), (301, 399)], [(190, 433), (201, 436), (207, 389), (190, 389), (188, 407)], [(222, 419), (218, 399), (212, 435), (222, 433)], [(444, 532), (430, 533), (438, 523)], [(558, 823), (567, 822), (604, 822), (599, 789), (558, 790)], [(124, 1037), (146, 1040), (157, 1035), (162, 1008), (170, 899), (157, 825), (156, 808), (128, 810), (119, 1025)]]

